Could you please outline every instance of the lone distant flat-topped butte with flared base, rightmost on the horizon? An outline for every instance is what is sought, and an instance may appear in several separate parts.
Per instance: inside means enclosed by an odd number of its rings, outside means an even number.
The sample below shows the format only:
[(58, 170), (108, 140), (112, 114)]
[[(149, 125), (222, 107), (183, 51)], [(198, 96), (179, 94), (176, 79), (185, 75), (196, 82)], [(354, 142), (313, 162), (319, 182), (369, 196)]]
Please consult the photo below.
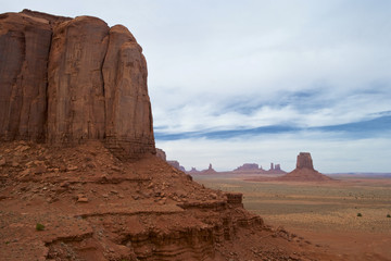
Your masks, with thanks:
[(297, 161), (297, 169), (292, 172), (278, 177), (279, 181), (291, 181), (291, 182), (327, 182), (333, 181), (314, 170), (313, 160), (311, 153), (300, 152)]

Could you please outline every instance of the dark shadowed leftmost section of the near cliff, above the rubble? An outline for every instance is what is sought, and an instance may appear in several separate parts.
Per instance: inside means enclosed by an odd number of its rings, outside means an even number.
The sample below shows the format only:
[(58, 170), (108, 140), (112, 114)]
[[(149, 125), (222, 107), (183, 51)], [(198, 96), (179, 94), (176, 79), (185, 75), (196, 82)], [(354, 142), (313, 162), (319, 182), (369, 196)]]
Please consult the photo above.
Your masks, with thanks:
[(51, 35), (47, 20), (25, 14), (0, 15), (2, 139), (45, 139)]

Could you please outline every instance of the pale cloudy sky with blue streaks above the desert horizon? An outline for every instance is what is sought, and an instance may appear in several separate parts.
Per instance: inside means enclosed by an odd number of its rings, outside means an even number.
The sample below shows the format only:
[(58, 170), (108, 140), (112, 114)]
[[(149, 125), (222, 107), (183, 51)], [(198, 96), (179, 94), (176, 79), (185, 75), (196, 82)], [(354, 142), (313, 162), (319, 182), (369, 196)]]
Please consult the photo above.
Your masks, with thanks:
[(242, 163), (391, 172), (391, 1), (4, 1), (123, 24), (149, 67), (156, 147), (199, 170)]

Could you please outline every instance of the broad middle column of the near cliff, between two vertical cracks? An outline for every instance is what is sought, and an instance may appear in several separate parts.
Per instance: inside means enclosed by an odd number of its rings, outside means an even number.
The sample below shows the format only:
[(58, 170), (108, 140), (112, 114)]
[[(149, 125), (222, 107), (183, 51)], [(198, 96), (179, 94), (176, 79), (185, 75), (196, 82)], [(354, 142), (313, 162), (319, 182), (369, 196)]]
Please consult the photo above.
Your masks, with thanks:
[(80, 16), (53, 29), (49, 55), (48, 140), (74, 142), (104, 137), (104, 85), (101, 72), (108, 25)]

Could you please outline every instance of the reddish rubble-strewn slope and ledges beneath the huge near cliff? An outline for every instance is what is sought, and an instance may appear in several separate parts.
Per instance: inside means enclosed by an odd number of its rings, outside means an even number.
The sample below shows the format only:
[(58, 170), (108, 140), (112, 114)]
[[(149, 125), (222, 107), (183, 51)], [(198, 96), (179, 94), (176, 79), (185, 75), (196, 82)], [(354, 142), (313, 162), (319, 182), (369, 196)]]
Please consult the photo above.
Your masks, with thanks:
[(155, 156), (119, 161), (99, 141), (3, 142), (0, 260), (343, 260), (240, 199)]

